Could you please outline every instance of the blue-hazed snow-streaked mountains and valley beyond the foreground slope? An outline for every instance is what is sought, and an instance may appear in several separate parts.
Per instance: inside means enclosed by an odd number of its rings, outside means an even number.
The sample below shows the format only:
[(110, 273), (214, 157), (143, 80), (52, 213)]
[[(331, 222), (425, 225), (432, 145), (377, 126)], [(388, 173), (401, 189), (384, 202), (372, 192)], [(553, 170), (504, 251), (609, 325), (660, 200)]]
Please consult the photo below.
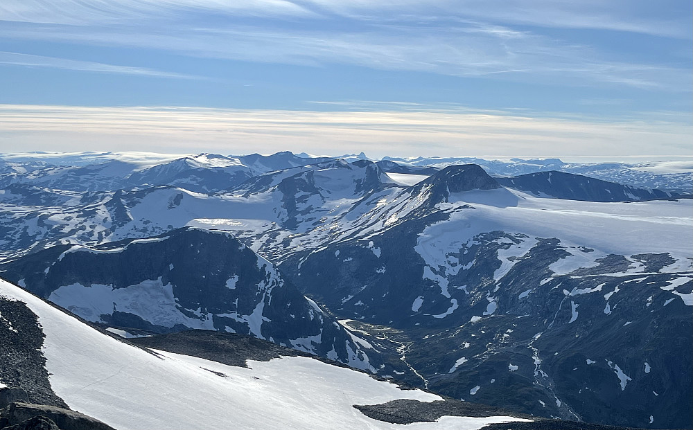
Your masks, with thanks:
[(689, 165), (217, 157), (100, 191), (7, 158), (0, 276), (121, 334), (234, 330), (466, 402), (693, 427)]

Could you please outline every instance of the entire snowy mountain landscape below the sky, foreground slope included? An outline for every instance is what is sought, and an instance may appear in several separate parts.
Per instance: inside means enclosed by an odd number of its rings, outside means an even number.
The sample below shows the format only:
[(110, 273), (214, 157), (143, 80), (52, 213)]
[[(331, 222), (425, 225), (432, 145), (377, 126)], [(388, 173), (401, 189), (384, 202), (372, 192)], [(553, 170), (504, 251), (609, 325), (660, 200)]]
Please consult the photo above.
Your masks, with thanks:
[(692, 429), (692, 192), (686, 161), (0, 154), (0, 429)]

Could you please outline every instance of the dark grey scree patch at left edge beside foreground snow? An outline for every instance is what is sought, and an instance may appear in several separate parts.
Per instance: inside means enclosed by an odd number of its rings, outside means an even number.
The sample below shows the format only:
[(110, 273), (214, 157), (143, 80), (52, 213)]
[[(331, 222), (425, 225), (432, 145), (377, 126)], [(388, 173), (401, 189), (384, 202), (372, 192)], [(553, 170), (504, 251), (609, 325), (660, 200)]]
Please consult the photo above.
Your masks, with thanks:
[(67, 407), (53, 393), (41, 352), (44, 333), (36, 315), (24, 303), (0, 297), (0, 407), (24, 400)]

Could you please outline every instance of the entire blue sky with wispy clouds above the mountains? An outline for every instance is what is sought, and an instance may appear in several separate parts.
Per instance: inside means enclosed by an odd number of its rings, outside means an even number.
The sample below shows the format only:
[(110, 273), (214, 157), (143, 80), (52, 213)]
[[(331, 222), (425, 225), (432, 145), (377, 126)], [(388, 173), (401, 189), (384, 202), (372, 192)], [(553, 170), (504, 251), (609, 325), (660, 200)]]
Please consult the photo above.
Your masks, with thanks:
[(2, 0), (0, 152), (693, 157), (690, 0)]

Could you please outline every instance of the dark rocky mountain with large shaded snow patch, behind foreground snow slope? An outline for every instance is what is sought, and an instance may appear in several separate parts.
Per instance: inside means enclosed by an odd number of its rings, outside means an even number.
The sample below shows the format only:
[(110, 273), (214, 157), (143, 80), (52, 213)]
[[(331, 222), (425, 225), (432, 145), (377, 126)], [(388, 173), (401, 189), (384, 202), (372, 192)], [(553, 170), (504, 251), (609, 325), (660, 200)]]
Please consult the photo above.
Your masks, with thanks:
[(252, 334), (357, 368), (378, 365), (376, 354), (367, 357), (332, 316), (225, 232), (177, 229), (89, 249), (55, 247), (6, 262), (0, 273), (91, 322)]

